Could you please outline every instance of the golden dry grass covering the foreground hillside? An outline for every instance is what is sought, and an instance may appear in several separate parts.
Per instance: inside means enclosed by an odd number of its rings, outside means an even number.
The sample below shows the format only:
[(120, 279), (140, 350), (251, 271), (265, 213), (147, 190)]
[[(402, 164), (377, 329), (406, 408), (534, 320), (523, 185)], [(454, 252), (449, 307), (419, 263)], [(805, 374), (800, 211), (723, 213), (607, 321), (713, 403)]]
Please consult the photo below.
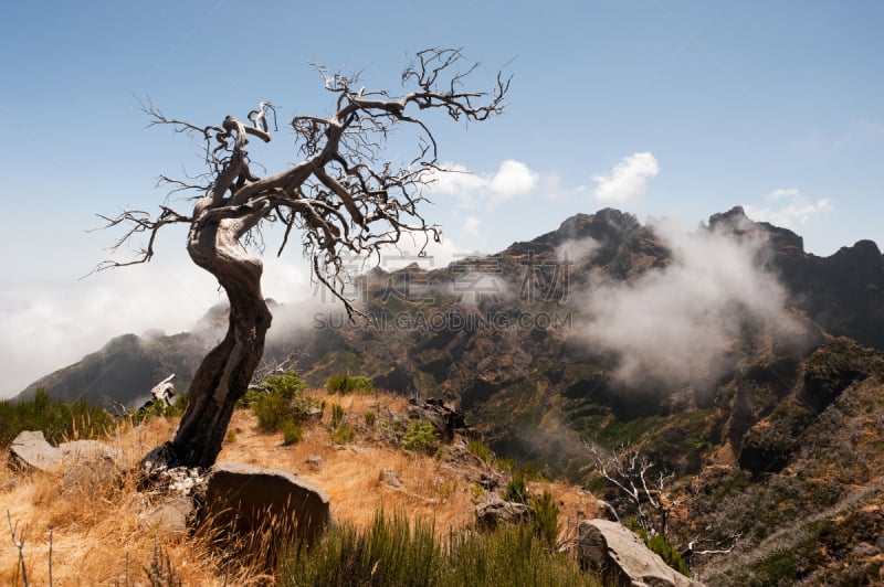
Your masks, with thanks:
[[(252, 414), (238, 410), (230, 425), (235, 440), (224, 444), (219, 460), (295, 472), (329, 494), (339, 522), (368, 525), (375, 511), (382, 508), (407, 512), (412, 519), (433, 520), (440, 533), (472, 524), (474, 504), (467, 469), (487, 466), (477, 460), (462, 465), (407, 455), (386, 442), (378, 426), (366, 426), (365, 412), (378, 413), (378, 423), (390, 412), (403, 414), (407, 402), (401, 397), (314, 393), (317, 399), (327, 402), (325, 421), (322, 426), (305, 426), (299, 442), (284, 447), (281, 434), (257, 433)], [(334, 446), (327, 429), (333, 403), (344, 406), (345, 421), (357, 429), (354, 441), (345, 446)], [(173, 420), (155, 419), (120, 429), (106, 444), (120, 450), (127, 465), (135, 465), (150, 448), (169, 439), (176, 425)], [(322, 457), (319, 467), (308, 465), (307, 458), (313, 456)], [(126, 585), (127, 572), (129, 585), (146, 585), (145, 568), (150, 565), (155, 545), (162, 547), (185, 585), (262, 581), (248, 570), (224, 577), (217, 555), (198, 538), (159, 534), (145, 527), (143, 516), (156, 498), (137, 491), (131, 478), (124, 478), (122, 484), (71, 485), (63, 482), (64, 474), (12, 473), (6, 458), (0, 457), (0, 514), (6, 519), (9, 511), (19, 533), (27, 526), (24, 556), (31, 585), (49, 584), (50, 529), (55, 585)], [(402, 487), (379, 483), (382, 470), (397, 471)], [(590, 516), (594, 512), (594, 499), (577, 488), (533, 483), (532, 489), (537, 493), (548, 489), (559, 503), (562, 538), (572, 534), (582, 512)], [(19, 573), (18, 551), (6, 520), (0, 522), (0, 585), (12, 585)]]

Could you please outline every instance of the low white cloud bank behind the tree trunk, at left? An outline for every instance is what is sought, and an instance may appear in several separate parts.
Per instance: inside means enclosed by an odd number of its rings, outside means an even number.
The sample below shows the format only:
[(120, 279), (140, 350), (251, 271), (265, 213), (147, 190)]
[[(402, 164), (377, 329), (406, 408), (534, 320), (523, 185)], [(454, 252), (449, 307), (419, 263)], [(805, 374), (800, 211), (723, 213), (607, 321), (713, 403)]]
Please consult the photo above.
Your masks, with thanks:
[[(285, 302), (311, 295), (306, 262), (264, 262), (265, 296)], [(211, 306), (225, 300), (214, 279), (186, 258), (155, 259), (81, 281), (7, 286), (0, 289), (0, 398), (120, 334), (190, 331)], [(293, 319), (281, 317), (278, 322)]]

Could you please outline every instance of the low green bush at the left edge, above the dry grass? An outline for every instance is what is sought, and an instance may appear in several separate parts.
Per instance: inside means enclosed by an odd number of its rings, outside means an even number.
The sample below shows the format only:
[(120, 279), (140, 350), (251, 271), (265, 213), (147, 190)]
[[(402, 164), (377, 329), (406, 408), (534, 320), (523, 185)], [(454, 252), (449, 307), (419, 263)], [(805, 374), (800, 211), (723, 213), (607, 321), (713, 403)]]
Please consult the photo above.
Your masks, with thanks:
[(44, 388), (25, 402), (0, 402), (0, 446), (8, 446), (23, 430), (41, 430), (50, 442), (73, 438), (102, 438), (116, 429), (106, 409), (75, 402), (52, 399)]

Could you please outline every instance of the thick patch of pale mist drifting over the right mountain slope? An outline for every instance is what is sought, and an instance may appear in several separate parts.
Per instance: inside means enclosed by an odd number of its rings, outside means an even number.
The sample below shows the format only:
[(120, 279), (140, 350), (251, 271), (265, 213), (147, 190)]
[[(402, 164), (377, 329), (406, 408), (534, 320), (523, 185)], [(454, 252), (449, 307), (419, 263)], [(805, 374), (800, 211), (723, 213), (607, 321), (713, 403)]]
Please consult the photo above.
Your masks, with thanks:
[(603, 282), (583, 300), (582, 340), (613, 354), (627, 386), (703, 385), (729, 366), (745, 324), (789, 323), (786, 291), (755, 262), (764, 243), (652, 223), (672, 263), (631, 282)]

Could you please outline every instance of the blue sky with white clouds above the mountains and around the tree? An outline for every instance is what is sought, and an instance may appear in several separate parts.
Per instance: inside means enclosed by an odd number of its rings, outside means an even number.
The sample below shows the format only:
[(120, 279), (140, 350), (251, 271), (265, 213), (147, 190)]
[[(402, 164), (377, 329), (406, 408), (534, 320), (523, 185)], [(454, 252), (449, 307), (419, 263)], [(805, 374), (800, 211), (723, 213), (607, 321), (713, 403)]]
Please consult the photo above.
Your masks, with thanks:
[[(371, 10), (366, 7), (371, 6)], [(285, 124), (332, 107), (311, 62), (398, 87), (409, 56), (462, 46), (506, 65), (506, 114), (433, 119), (443, 180), (428, 215), (448, 253), (499, 250), (604, 206), (686, 227), (741, 204), (828, 255), (884, 244), (884, 3), (876, 1), (15, 2), (0, 38), (0, 396), (110, 335), (183, 330), (219, 299), (183, 233), (149, 267), (78, 278), (113, 243), (95, 214), (155, 210), (160, 174), (198, 148), (146, 128), (140, 104), (199, 125), (281, 106), (270, 171), (294, 159)], [(401, 145), (394, 142), (393, 149)], [(393, 152), (392, 154), (398, 154)], [(187, 204), (181, 204), (187, 211)], [(444, 254), (442, 254), (444, 256)], [(293, 247), (265, 294), (309, 290)]]

